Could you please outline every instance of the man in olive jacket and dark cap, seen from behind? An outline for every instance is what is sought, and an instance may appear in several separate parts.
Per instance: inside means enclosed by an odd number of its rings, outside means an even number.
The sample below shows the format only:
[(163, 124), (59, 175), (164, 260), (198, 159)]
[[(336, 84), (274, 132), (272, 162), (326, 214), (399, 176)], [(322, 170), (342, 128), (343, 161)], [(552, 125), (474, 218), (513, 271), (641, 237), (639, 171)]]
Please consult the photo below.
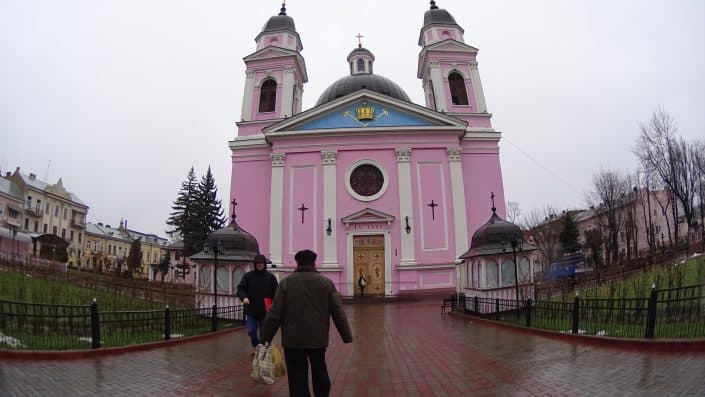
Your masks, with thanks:
[(343, 342), (352, 342), (352, 332), (333, 282), (316, 271), (316, 253), (299, 251), (294, 259), (296, 270), (279, 283), (272, 308), (264, 319), (262, 341), (271, 342), (281, 326), (290, 396), (309, 395), (309, 363), (314, 395), (328, 396), (326, 348), (330, 318)]

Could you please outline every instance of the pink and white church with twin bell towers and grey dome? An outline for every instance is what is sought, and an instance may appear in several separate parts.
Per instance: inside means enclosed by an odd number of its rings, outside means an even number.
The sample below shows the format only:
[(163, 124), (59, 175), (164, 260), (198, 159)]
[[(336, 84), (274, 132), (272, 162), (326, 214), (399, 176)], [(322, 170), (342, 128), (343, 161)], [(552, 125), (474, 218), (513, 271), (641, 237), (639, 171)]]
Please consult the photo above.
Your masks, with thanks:
[(431, 1), (418, 44), (425, 104), (374, 73), (359, 45), (341, 74), (302, 109), (308, 81), (301, 37), (283, 6), (244, 58), (245, 88), (232, 150), (237, 220), (276, 265), (301, 249), (343, 296), (454, 291), (470, 238), (503, 216), (498, 143), (478, 71), (478, 49)]

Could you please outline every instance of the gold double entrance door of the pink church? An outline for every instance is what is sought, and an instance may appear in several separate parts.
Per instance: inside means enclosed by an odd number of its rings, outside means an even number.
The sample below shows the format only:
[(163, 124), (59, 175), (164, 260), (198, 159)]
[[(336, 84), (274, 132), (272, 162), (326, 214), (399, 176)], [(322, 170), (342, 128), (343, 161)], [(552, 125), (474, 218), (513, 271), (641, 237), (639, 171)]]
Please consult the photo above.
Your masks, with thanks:
[(360, 296), (360, 276), (367, 281), (365, 295), (384, 295), (384, 235), (353, 237), (355, 296)]

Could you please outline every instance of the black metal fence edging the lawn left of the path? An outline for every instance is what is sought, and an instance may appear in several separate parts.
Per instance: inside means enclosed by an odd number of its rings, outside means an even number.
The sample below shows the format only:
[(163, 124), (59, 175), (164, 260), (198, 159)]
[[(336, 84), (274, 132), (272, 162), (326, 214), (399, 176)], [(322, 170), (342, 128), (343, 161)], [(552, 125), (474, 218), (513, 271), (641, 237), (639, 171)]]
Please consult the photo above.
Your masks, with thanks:
[(242, 305), (207, 309), (105, 311), (0, 301), (0, 349), (67, 350), (170, 340), (240, 326)]

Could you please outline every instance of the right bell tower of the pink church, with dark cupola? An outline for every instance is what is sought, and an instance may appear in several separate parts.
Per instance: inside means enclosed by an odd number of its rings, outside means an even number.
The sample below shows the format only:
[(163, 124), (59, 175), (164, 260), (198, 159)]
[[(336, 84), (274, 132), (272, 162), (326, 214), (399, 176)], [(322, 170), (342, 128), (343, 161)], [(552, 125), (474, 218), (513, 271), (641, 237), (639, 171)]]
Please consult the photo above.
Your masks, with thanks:
[(419, 35), (417, 77), (423, 81), (426, 107), (463, 115), (487, 113), (477, 70), (477, 48), (465, 44), (465, 31), (446, 10), (431, 1)]

